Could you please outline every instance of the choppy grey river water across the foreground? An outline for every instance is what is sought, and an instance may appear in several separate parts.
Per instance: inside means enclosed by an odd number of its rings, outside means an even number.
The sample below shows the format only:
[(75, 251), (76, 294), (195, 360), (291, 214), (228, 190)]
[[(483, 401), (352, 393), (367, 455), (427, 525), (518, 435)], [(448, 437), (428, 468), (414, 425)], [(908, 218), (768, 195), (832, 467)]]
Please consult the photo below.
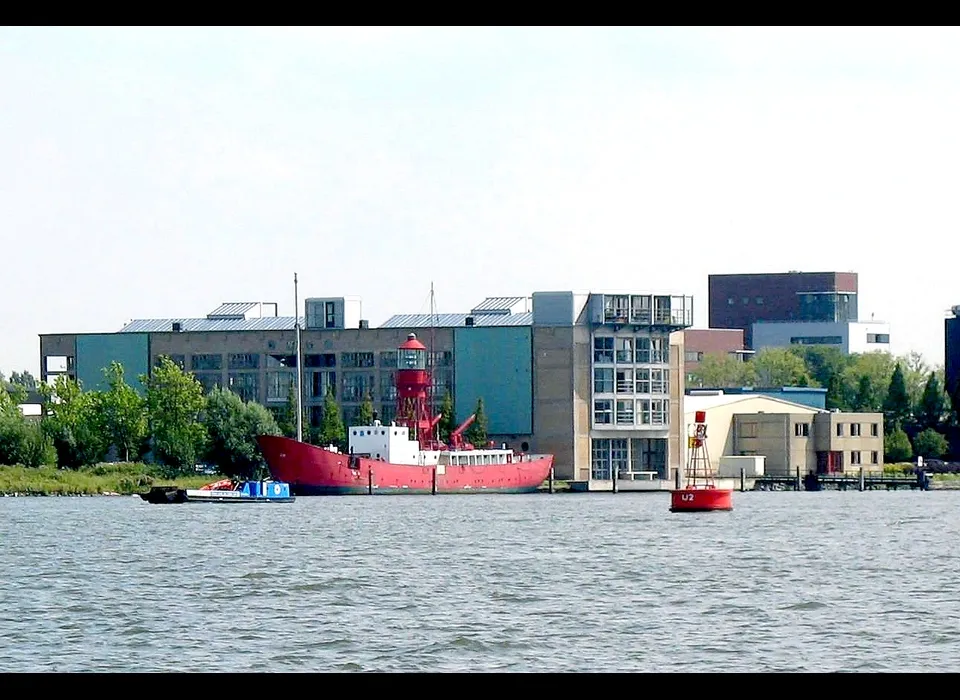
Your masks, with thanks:
[(0, 498), (0, 671), (948, 671), (960, 492)]

